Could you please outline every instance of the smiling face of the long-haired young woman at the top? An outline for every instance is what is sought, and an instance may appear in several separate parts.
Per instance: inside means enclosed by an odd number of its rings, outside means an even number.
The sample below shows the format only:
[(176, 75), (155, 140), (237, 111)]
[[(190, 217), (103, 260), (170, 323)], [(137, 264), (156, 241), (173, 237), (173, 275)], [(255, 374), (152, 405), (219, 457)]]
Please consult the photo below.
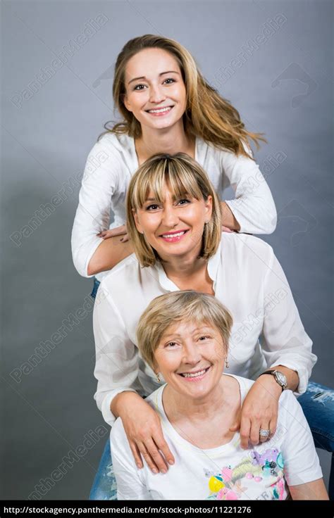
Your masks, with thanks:
[[(142, 125), (163, 129), (178, 122), (187, 106), (185, 83), (173, 55), (144, 49), (125, 68), (124, 104)], [(159, 113), (151, 110), (160, 109)]]

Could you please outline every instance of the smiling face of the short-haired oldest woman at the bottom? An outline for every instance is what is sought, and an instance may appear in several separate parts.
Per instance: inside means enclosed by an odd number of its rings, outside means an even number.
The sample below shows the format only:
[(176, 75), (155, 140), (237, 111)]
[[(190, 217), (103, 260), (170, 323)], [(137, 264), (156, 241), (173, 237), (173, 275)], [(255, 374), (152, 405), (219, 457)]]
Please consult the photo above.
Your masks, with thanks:
[(156, 372), (177, 393), (192, 398), (205, 397), (218, 385), (224, 359), (221, 334), (205, 322), (175, 322), (154, 351)]

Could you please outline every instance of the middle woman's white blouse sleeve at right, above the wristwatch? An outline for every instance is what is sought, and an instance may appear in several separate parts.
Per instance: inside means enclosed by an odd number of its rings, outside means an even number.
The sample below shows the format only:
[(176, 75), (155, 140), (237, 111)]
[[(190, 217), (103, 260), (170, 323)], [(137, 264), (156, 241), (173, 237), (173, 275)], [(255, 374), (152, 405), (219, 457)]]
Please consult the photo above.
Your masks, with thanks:
[(268, 367), (284, 365), (298, 373), (295, 396), (307, 389), (317, 357), (307, 335), (290, 286), (271, 246), (264, 279), (264, 325), (261, 345)]

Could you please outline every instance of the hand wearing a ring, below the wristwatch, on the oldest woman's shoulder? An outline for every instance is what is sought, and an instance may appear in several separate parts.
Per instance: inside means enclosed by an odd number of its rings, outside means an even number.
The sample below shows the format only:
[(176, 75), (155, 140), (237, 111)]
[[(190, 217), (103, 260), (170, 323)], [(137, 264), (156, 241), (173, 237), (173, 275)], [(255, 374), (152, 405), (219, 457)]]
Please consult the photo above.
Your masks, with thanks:
[(237, 422), (230, 427), (230, 431), (240, 429), (240, 446), (249, 448), (248, 441), (253, 445), (263, 443), (266, 437), (260, 437), (260, 428), (270, 430), (271, 438), (276, 432), (278, 416), (278, 400), (282, 388), (273, 376), (259, 377), (247, 393), (240, 410)]

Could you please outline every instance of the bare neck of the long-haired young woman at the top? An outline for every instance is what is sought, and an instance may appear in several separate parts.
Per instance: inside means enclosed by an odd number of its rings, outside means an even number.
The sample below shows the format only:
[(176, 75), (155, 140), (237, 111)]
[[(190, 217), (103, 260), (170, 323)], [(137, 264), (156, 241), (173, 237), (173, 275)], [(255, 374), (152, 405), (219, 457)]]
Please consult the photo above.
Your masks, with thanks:
[(175, 125), (162, 130), (142, 125), (142, 137), (135, 141), (137, 151), (143, 160), (156, 153), (188, 153), (194, 155), (194, 139), (187, 137), (182, 119)]

